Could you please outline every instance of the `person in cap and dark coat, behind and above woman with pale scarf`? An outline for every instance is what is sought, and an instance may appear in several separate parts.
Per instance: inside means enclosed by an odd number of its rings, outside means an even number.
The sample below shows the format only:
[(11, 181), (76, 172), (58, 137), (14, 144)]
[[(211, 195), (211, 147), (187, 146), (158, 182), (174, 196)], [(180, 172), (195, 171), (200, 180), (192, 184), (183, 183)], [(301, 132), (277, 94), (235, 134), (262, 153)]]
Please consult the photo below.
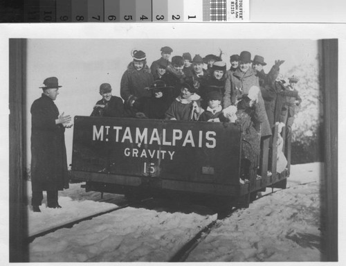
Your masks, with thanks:
[(172, 101), (180, 95), (181, 85), (185, 81), (183, 73), (184, 59), (180, 55), (172, 57), (172, 64), (167, 66), (167, 73), (162, 78), (167, 86), (173, 87)]

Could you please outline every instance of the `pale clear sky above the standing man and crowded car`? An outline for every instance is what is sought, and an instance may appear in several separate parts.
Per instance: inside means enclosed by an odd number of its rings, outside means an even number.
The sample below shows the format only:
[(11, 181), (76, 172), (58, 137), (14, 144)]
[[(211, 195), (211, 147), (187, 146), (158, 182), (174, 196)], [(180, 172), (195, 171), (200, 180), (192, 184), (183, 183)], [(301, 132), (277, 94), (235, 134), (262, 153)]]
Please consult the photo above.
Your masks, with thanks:
[[(230, 35), (232, 35), (230, 33)], [(226, 37), (226, 36), (225, 36)], [(229, 57), (241, 51), (262, 55), (268, 72), (275, 60), (285, 60), (281, 73), (298, 64), (318, 64), (318, 42), (313, 39), (28, 39), (26, 64), (27, 161), (30, 163), (30, 105), (39, 98), (45, 78), (59, 79), (60, 95), (55, 104), (60, 113), (89, 116), (93, 105), (100, 100), (102, 83), (120, 96), (120, 80), (131, 62), (131, 51), (146, 53), (147, 64), (161, 57), (161, 47), (170, 46), (172, 56), (189, 52), (192, 57), (224, 53), (222, 60), (230, 67)], [(287, 77), (285, 77), (287, 78)], [(71, 163), (73, 127), (65, 132), (68, 163)]]

